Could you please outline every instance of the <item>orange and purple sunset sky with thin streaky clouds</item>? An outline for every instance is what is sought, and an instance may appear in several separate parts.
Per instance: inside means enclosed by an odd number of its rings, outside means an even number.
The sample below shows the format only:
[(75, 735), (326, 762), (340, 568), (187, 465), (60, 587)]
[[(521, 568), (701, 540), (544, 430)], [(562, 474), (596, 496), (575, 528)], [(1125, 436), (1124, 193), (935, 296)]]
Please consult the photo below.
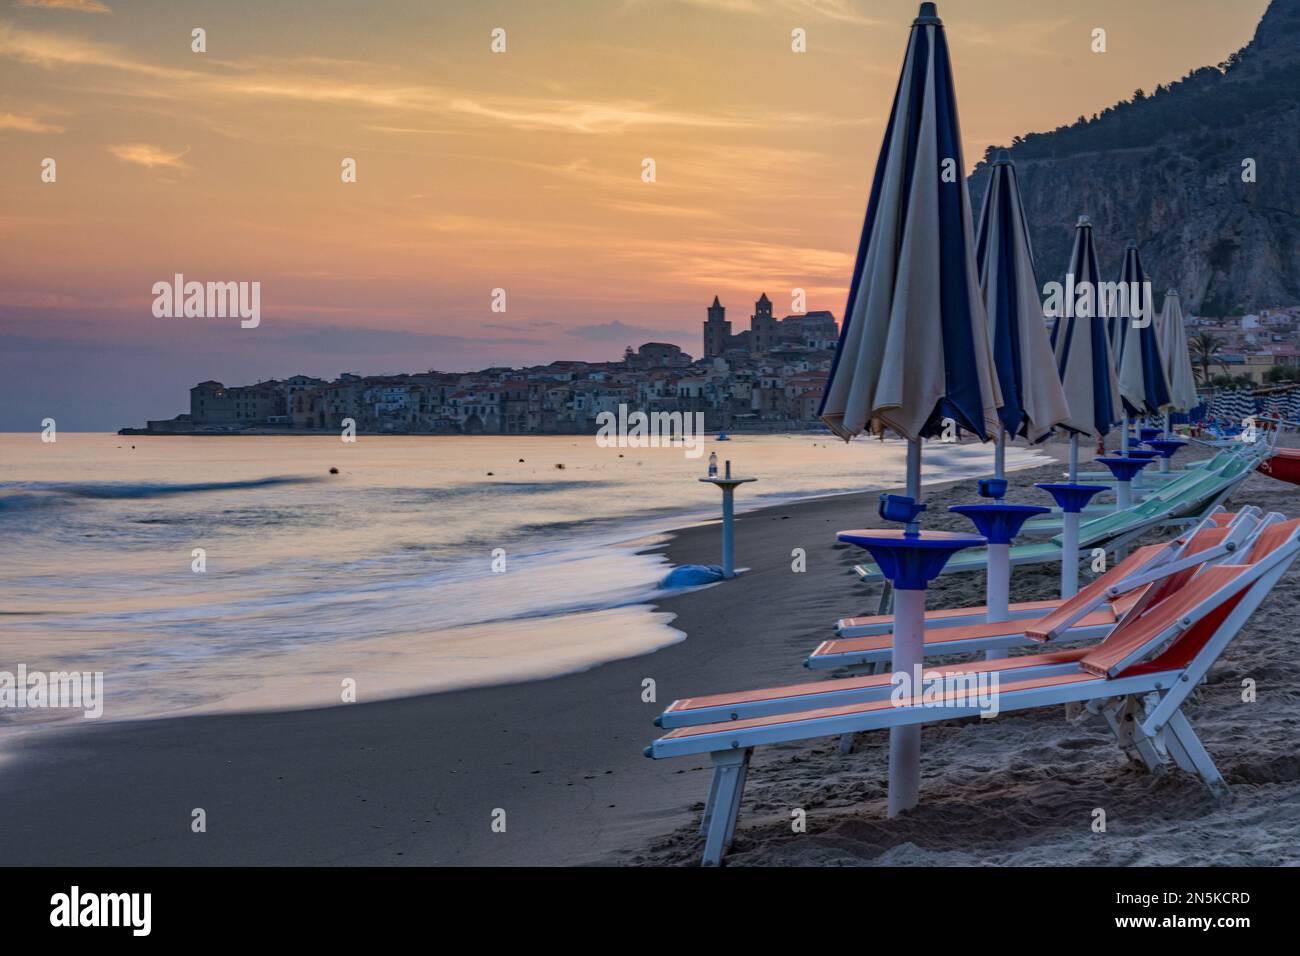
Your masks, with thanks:
[[(715, 294), (737, 330), (764, 291), (838, 317), (916, 5), (0, 0), (0, 431), (170, 418), (205, 378), (698, 355)], [(967, 169), (1266, 7), (940, 3)], [(260, 282), (260, 324), (156, 317), (176, 273)]]

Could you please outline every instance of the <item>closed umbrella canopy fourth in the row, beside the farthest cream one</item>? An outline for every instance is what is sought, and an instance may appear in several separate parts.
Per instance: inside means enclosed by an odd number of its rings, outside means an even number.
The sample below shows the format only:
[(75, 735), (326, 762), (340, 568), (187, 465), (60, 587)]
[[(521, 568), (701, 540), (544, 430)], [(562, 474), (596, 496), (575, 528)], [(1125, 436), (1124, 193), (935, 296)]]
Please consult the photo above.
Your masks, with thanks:
[(1169, 380), (1156, 341), (1154, 303), (1141, 268), (1138, 243), (1124, 250), (1119, 272), (1118, 308), (1112, 319), (1112, 345), (1117, 350), (1119, 397), (1130, 415), (1158, 415), (1169, 407)]

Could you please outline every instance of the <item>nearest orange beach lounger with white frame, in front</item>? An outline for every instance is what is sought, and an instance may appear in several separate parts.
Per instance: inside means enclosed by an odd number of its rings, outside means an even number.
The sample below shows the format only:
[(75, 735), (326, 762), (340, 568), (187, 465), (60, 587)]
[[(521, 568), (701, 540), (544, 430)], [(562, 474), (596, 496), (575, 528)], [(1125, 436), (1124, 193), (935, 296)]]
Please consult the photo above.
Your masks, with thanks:
[[(1173, 593), (1126, 618), (1101, 644), (1082, 652), (959, 666), (946, 675), (952, 682), (945, 682), (937, 700), (914, 696), (896, 702), (881, 692), (876, 700), (822, 706), (828, 698), (815, 696), (805, 710), (677, 727), (647, 747), (646, 756), (712, 757), (701, 834), (703, 862), (716, 865), (734, 835), (755, 747), (989, 717), (988, 702), (972, 702), (970, 695), (970, 680), (983, 674), (997, 678), (985, 692), (997, 714), (1083, 704), (1089, 714), (1105, 715), (1126, 753), (1157, 773), (1170, 763), (1195, 773), (1221, 796), (1227, 786), (1182, 708), (1296, 559), (1297, 535), (1300, 522), (1270, 523), (1254, 536), (1249, 553), (1239, 555), (1239, 563), (1200, 568)], [(942, 669), (931, 672), (942, 675)]]

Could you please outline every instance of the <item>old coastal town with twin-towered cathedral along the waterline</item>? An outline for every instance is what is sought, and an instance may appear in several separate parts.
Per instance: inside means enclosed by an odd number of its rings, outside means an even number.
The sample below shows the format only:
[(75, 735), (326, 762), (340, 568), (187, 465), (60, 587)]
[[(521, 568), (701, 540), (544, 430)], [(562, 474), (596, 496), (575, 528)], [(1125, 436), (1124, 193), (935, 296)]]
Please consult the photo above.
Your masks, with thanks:
[[(1200, 384), (1251, 388), (1300, 380), (1300, 307), (1186, 319)], [(777, 317), (763, 294), (749, 328), (733, 332), (715, 295), (702, 323), (702, 358), (667, 342), (630, 345), (621, 360), (556, 360), (477, 372), (307, 375), (252, 385), (203, 381), (190, 411), (125, 434), (335, 432), (368, 434), (590, 434), (620, 405), (645, 412), (703, 412), (711, 431), (818, 427), (838, 323), (828, 311)]]

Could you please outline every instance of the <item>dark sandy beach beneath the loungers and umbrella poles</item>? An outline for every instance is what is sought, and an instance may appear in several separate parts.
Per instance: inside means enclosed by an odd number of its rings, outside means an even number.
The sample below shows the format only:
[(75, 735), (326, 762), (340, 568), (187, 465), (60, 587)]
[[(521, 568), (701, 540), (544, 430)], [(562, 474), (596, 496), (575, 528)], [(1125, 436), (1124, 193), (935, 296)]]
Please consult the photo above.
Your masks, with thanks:
[[(1013, 501), (1058, 466), (1013, 475)], [(927, 489), (927, 527), (962, 528)], [(878, 493), (737, 519), (738, 579), (664, 601), (688, 639), (581, 674), (321, 710), (78, 723), (0, 752), (9, 865), (698, 862), (707, 758), (650, 761), (653, 718), (675, 697), (809, 679), (833, 622), (875, 607), (841, 528), (878, 523)], [(1239, 492), (1300, 514), (1296, 489)], [(807, 570), (792, 571), (792, 550)], [(675, 563), (711, 563), (718, 528), (680, 532)], [(884, 816), (885, 735), (755, 754), (732, 865), (1300, 862), (1297, 572), (1278, 587), (1188, 709), (1232, 796), (1126, 763), (1100, 722), (1061, 709), (927, 728), (920, 806)], [(1014, 598), (1050, 597), (1056, 572), (1017, 570)], [(944, 578), (932, 607), (983, 602), (983, 578)], [(1240, 683), (1258, 684), (1243, 704)], [(644, 700), (654, 680), (654, 701)], [(203, 809), (205, 832), (194, 832)], [(790, 810), (807, 812), (807, 832)], [(1108, 832), (1092, 832), (1093, 810)], [(504, 810), (504, 832), (494, 819)]]

